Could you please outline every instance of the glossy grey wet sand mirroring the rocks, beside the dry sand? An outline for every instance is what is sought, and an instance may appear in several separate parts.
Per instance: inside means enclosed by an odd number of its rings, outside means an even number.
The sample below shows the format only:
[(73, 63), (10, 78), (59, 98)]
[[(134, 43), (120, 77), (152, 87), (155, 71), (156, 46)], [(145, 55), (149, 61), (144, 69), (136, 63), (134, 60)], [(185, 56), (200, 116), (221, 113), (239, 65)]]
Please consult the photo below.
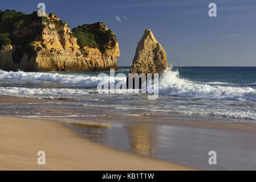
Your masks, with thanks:
[[(80, 137), (133, 154), (198, 169), (255, 170), (255, 160), (251, 160), (256, 156), (255, 133), (149, 122), (64, 125)], [(208, 163), (208, 153), (212, 150), (218, 152), (217, 165)]]

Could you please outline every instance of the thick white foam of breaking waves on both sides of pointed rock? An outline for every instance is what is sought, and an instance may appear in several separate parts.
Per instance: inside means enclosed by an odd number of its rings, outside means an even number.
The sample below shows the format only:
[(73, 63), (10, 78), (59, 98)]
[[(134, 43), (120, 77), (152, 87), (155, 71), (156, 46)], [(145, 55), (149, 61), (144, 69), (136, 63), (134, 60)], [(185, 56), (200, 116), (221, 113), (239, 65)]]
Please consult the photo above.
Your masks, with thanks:
[[(97, 77), (73, 74), (63, 75), (60, 73), (26, 73), (26, 72), (0, 72), (0, 80), (11, 79), (21, 81), (49, 81), (63, 85), (92, 85), (96, 88), (99, 82), (113, 81), (126, 81), (126, 77)], [(205, 84), (200, 82), (191, 82), (179, 77), (178, 71), (165, 71), (160, 77), (159, 81), (159, 94), (178, 96), (178, 97), (191, 97), (202, 98), (207, 100), (247, 100), (256, 101), (256, 90), (252, 87), (238, 87), (225, 85), (224, 83), (218, 83), (222, 85), (212, 85), (213, 83)], [(134, 90), (118, 90), (116, 93), (133, 93)], [(87, 94), (88, 90), (80, 89), (42, 89), (42, 88), (0, 88), (0, 94), (11, 94), (15, 96), (40, 96), (43, 98), (62, 96), (68, 97), (74, 94)], [(74, 98), (74, 96), (72, 96)]]

